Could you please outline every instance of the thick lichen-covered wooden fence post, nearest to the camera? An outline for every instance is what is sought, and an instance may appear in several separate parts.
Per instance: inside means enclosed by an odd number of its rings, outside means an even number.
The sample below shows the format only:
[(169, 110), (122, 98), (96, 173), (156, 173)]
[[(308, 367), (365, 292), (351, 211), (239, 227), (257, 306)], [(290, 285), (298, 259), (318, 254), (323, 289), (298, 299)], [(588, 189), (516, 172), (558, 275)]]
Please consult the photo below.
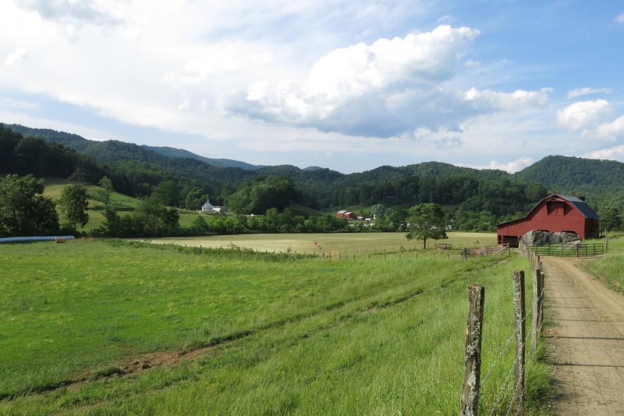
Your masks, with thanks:
[(476, 416), (478, 412), (484, 304), (485, 288), (478, 285), (469, 285), (465, 349), (466, 367), (462, 384), (460, 416)]

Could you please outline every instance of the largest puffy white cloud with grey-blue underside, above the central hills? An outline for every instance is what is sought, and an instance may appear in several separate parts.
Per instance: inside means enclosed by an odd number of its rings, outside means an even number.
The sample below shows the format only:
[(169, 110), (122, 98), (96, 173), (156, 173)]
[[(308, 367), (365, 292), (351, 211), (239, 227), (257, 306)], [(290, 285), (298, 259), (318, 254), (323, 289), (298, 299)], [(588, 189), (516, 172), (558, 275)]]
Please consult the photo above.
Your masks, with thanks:
[(392, 137), (417, 128), (456, 130), (475, 114), (544, 104), (552, 89), (503, 93), (447, 87), (478, 34), (442, 25), (335, 49), (317, 60), (304, 80), (255, 83), (234, 96), (228, 110), (271, 123)]

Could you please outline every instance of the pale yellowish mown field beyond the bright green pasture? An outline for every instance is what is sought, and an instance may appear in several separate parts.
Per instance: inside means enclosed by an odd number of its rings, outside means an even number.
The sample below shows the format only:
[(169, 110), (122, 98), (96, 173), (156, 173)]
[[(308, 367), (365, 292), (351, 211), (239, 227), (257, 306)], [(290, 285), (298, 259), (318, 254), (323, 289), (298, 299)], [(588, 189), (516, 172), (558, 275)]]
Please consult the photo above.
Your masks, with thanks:
[[(383, 250), (395, 252), (422, 248), (422, 241), (408, 241), (404, 232), (361, 232), (361, 233), (327, 233), (327, 234), (238, 234), (229, 236), (173, 237), (151, 239), (153, 243), (178, 244), (189, 247), (227, 248), (236, 245), (263, 252), (293, 252), (320, 254), (322, 252), (340, 251), (343, 254), (381, 253)], [(496, 245), (496, 234), (477, 232), (449, 232), (449, 239), (428, 240), (427, 245), (435, 243), (451, 243), (453, 246)], [(314, 243), (320, 243), (318, 248)]]

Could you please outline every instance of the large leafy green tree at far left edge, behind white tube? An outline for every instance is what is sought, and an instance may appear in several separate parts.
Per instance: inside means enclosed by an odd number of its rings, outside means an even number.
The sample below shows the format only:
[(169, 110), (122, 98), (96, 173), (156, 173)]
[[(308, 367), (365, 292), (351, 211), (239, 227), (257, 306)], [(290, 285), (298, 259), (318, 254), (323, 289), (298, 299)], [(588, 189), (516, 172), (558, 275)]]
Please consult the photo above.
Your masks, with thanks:
[(54, 202), (45, 198), (44, 180), (33, 175), (0, 178), (0, 236), (48, 235), (58, 231)]

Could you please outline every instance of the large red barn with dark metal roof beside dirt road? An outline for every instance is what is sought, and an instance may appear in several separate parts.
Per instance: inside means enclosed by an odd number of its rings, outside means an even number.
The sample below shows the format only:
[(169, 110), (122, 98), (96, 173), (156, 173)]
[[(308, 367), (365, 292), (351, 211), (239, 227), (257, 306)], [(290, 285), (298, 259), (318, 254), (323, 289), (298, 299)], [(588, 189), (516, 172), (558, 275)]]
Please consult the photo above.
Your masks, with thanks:
[(517, 247), (521, 236), (530, 231), (575, 232), (581, 239), (600, 235), (599, 218), (584, 198), (553, 193), (539, 201), (523, 218), (496, 225), (499, 244)]

